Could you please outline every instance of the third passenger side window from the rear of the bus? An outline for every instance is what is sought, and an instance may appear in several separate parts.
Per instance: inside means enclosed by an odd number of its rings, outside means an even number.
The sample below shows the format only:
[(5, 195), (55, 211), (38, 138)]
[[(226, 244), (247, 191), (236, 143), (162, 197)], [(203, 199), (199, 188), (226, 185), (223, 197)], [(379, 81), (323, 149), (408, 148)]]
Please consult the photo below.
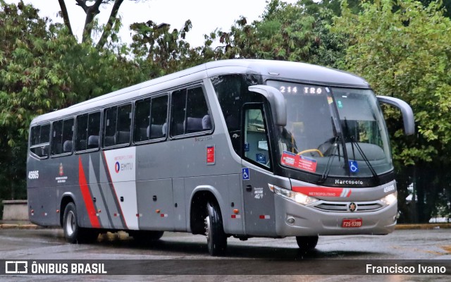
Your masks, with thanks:
[(99, 148), (100, 112), (77, 116), (75, 151)]

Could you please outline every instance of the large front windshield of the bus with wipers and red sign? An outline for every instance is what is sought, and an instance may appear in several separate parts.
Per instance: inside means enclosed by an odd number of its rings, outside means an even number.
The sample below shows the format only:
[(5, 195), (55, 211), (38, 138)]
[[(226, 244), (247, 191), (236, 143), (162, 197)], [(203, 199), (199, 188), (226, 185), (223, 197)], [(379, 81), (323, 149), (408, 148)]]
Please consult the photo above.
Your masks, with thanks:
[(282, 166), (335, 177), (369, 177), (393, 169), (385, 121), (369, 89), (268, 80), (287, 102), (278, 132)]

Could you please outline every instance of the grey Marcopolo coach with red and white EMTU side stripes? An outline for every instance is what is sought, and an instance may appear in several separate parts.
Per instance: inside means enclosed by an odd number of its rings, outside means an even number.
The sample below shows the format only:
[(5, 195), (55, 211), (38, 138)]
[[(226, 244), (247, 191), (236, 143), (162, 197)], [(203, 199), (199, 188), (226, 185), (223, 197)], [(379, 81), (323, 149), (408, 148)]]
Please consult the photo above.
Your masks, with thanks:
[(204, 63), (34, 118), (30, 221), (69, 243), (125, 231), (229, 237), (388, 234), (397, 188), (378, 96), (356, 75), (288, 61)]

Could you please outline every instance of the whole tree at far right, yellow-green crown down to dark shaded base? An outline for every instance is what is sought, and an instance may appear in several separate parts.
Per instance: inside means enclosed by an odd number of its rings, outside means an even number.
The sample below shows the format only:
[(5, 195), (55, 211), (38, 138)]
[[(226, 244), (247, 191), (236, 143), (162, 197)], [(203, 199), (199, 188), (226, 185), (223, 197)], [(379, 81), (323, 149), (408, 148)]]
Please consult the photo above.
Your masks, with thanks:
[[(417, 137), (408, 139), (397, 130), (393, 157), (404, 173), (415, 166), (419, 221), (428, 221), (443, 189), (447, 197), (451, 193), (445, 169), (451, 164), (451, 21), (440, 3), (373, 2), (364, 2), (359, 15), (345, 2), (336, 20), (335, 29), (351, 39), (343, 66), (366, 78), (377, 93), (412, 106)], [(388, 126), (399, 128), (399, 114), (393, 109), (385, 114)]]

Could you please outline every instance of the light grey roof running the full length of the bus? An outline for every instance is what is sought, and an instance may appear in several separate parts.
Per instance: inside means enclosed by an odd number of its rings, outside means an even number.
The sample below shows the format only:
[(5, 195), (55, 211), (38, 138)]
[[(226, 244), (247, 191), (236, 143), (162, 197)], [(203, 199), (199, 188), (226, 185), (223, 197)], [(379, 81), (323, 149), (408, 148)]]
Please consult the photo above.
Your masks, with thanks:
[(184, 71), (178, 71), (177, 73), (172, 73), (170, 75), (164, 75), (161, 78), (148, 80), (137, 85), (125, 87), (121, 90), (89, 99), (66, 109), (52, 111), (48, 114), (37, 116), (32, 120), (32, 124), (73, 115), (83, 111), (89, 111), (90, 109), (96, 109), (106, 104), (119, 103), (152, 92), (168, 90), (204, 78), (233, 73), (252, 73), (264, 75), (266, 78), (273, 78), (275, 80), (288, 79), (304, 83), (338, 87), (369, 88), (368, 82), (357, 75), (338, 71), (333, 68), (311, 65), (309, 63), (256, 59), (220, 60), (204, 63), (193, 68), (187, 68)]

